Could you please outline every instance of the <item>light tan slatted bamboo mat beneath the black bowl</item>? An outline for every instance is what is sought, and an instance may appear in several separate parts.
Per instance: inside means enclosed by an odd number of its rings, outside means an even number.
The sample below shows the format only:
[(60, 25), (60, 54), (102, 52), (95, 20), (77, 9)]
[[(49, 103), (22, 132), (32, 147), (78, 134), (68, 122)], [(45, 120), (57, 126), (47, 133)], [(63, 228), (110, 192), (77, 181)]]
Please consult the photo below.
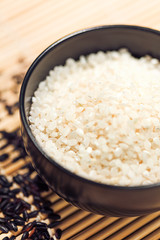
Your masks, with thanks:
[[(58, 38), (85, 27), (134, 24), (160, 29), (160, 1), (145, 0), (1, 0), (0, 1), (0, 131), (19, 129), (18, 95), (23, 76), (35, 57)], [(0, 146), (6, 139), (0, 135)], [(19, 151), (19, 150), (18, 150)], [(8, 158), (1, 173), (17, 174), (28, 157), (12, 143), (1, 150)], [(50, 191), (46, 199), (60, 214), (62, 240), (158, 240), (160, 212), (143, 217), (115, 218), (79, 210)], [(2, 239), (0, 235), (0, 239)]]

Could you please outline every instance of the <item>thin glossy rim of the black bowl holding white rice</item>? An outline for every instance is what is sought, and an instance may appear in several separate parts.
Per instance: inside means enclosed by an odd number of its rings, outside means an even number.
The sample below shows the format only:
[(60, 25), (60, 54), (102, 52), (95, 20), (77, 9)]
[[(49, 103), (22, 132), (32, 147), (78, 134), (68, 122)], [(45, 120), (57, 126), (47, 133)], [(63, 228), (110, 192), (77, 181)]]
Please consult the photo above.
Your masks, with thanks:
[(57, 41), (53, 42), (51, 45), (49, 45), (44, 51), (42, 51), (38, 57), (32, 62), (30, 65), (29, 69), (27, 70), (23, 83), (21, 85), (20, 89), (20, 96), (19, 96), (19, 110), (20, 110), (20, 117), (21, 121), (23, 123), (23, 127), (25, 128), (25, 131), (27, 132), (28, 136), (30, 137), (30, 140), (34, 144), (34, 146), (38, 149), (38, 151), (53, 165), (55, 165), (57, 168), (59, 168), (62, 172), (65, 172), (66, 174), (69, 174), (71, 177), (76, 178), (77, 180), (82, 181), (83, 183), (87, 184), (92, 184), (97, 187), (101, 188), (110, 188), (110, 189), (117, 189), (117, 190), (142, 190), (142, 189), (151, 189), (151, 188), (157, 188), (160, 187), (160, 182), (157, 183), (152, 183), (152, 184), (146, 184), (146, 185), (133, 185), (133, 186), (121, 186), (121, 185), (111, 185), (111, 184), (106, 184), (106, 183), (101, 183), (101, 182), (96, 182), (91, 179), (87, 179), (85, 177), (82, 177), (80, 175), (75, 174), (74, 172), (71, 172), (67, 168), (64, 168), (62, 165), (60, 165), (56, 160), (51, 158), (39, 145), (37, 142), (36, 138), (32, 134), (31, 128), (29, 127), (28, 121), (27, 121), (27, 116), (25, 113), (25, 107), (24, 107), (24, 99), (25, 99), (25, 91), (26, 87), (29, 81), (29, 78), (38, 65), (38, 63), (42, 60), (43, 57), (45, 57), (50, 51), (52, 51), (56, 46), (59, 44), (74, 38), (76, 36), (79, 36), (81, 34), (84, 34), (86, 32), (91, 32), (91, 31), (97, 31), (97, 30), (103, 30), (103, 29), (129, 29), (129, 30), (139, 30), (139, 31), (145, 31), (145, 32), (150, 32), (152, 34), (160, 36), (160, 31), (148, 28), (148, 27), (142, 27), (142, 26), (137, 26), (137, 25), (125, 25), (125, 24), (118, 24), (118, 25), (100, 25), (100, 26), (95, 26), (95, 27), (89, 27), (85, 29), (81, 29), (78, 31), (74, 31), (68, 35), (63, 36), (62, 38), (58, 39)]

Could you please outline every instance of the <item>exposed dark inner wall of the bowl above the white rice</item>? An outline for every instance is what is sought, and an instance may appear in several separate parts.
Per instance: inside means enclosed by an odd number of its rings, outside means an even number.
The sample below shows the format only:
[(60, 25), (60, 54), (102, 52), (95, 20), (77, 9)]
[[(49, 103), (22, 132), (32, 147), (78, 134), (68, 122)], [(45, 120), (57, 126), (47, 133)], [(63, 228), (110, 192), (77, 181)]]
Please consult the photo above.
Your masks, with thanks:
[(127, 48), (136, 57), (149, 54), (160, 59), (159, 41), (157, 31), (133, 26), (102, 26), (82, 30), (60, 39), (36, 59), (26, 75), (24, 82), (26, 116), (38, 84), (54, 66), (64, 65), (67, 58), (78, 59), (80, 55), (100, 50)]

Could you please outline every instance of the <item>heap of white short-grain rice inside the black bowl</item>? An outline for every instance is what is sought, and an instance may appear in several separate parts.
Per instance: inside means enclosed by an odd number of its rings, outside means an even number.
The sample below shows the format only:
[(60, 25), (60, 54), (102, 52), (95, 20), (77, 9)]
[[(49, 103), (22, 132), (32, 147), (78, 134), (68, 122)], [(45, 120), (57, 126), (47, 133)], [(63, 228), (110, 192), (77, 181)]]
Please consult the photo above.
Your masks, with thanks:
[(39, 84), (30, 127), (46, 153), (97, 182), (160, 181), (160, 62), (125, 50), (68, 59)]

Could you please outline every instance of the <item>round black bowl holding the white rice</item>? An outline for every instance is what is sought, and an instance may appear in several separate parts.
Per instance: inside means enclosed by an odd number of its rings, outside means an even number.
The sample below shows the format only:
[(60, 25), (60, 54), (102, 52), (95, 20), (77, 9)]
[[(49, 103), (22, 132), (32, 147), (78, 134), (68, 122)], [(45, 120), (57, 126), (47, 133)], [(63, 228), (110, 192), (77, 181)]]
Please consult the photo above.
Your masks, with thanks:
[(160, 210), (160, 183), (121, 187), (100, 184), (66, 170), (51, 159), (35, 140), (28, 124), (31, 98), (50, 69), (99, 50), (125, 47), (136, 57), (160, 59), (160, 32), (138, 26), (100, 26), (81, 30), (49, 46), (29, 68), (21, 88), (22, 136), (33, 165), (48, 185), (66, 201), (102, 215), (136, 216)]

